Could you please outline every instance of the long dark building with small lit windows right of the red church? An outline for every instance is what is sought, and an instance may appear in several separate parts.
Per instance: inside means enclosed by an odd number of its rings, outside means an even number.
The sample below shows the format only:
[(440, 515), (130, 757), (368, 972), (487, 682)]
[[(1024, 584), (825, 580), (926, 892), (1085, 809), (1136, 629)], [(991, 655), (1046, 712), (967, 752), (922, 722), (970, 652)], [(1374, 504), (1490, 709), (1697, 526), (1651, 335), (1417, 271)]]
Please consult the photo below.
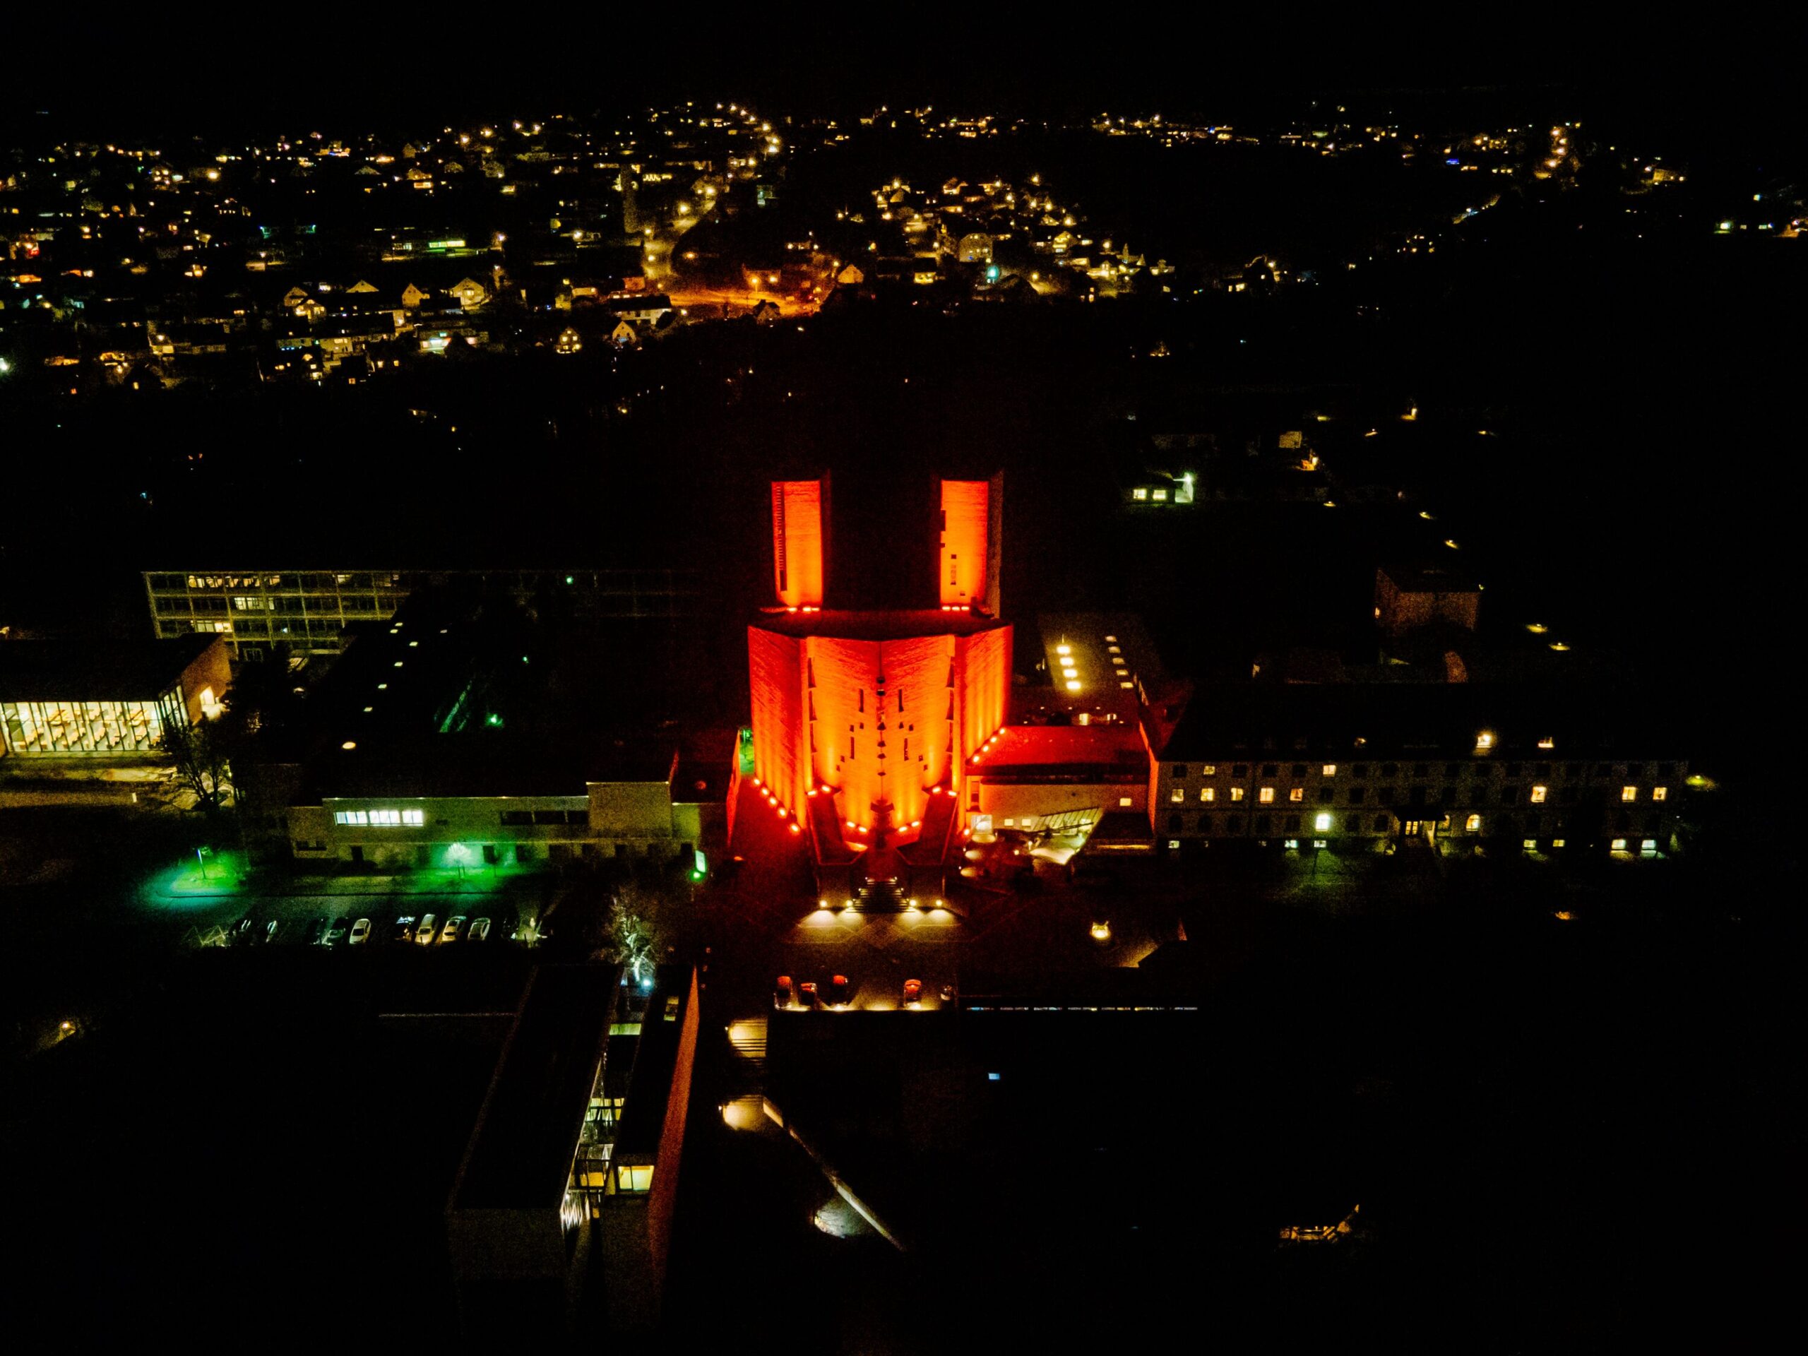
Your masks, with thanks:
[(1248, 683), (1201, 692), (1155, 761), (1170, 850), (1242, 839), (1663, 852), (1689, 763), (1618, 691)]

